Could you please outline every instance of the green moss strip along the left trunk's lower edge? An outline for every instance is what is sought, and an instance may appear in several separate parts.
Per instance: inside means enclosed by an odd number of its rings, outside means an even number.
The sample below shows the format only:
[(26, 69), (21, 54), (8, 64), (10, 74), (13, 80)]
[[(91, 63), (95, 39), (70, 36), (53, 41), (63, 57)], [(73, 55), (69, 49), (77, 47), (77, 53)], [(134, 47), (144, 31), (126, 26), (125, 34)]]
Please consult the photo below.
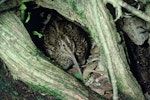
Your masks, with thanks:
[(55, 90), (49, 90), (47, 88), (45, 88), (44, 86), (40, 86), (40, 85), (34, 85), (32, 83), (28, 83), (28, 86), (38, 92), (45, 92), (48, 95), (54, 96), (56, 98), (56, 100), (64, 100), (65, 96), (61, 95), (61, 91), (59, 91), (58, 89)]

